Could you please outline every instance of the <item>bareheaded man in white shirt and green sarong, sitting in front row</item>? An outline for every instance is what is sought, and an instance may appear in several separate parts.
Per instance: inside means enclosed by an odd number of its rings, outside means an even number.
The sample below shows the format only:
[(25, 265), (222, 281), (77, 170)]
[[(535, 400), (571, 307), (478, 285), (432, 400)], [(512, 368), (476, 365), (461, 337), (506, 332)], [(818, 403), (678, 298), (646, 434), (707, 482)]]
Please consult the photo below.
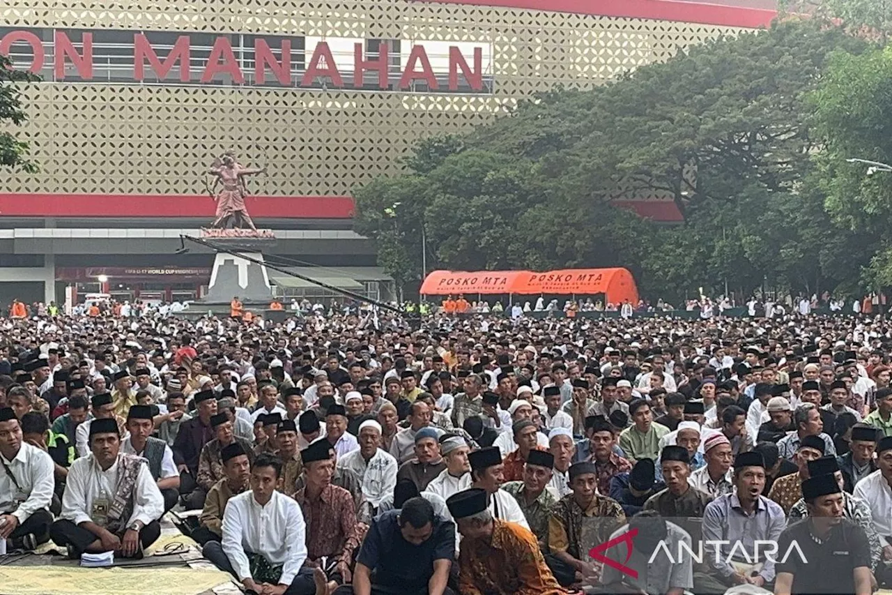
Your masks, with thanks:
[(312, 571), (301, 571), (307, 559), (306, 524), (297, 502), (276, 490), (281, 473), (276, 457), (257, 457), (251, 490), (227, 502), (222, 543), (209, 541), (202, 553), (233, 574), (245, 590), (264, 595), (313, 593)]

